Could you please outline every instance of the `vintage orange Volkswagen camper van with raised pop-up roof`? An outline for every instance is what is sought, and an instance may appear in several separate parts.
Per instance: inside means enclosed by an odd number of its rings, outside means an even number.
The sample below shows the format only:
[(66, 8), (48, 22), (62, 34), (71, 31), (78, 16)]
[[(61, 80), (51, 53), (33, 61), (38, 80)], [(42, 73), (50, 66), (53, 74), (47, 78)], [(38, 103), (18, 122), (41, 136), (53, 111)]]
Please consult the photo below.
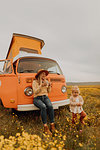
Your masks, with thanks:
[(69, 104), (65, 77), (58, 63), (41, 55), (44, 41), (13, 34), (5, 60), (0, 60), (0, 103), (18, 111), (37, 110), (33, 104), (32, 81), (39, 69), (49, 71), (52, 82), (49, 98), (54, 109)]

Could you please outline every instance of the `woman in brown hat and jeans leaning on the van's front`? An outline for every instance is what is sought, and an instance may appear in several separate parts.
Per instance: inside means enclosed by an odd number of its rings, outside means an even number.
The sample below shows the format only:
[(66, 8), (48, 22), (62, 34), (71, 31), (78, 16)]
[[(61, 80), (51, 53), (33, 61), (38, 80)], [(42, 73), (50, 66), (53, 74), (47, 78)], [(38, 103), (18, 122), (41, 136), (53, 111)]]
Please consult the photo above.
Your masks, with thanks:
[[(44, 125), (44, 132), (52, 135), (54, 132), (54, 109), (50, 99), (48, 98), (48, 93), (51, 91), (51, 83), (46, 80), (46, 76), (49, 74), (47, 70), (41, 69), (35, 76), (33, 80), (32, 88), (34, 92), (33, 104), (41, 110), (41, 118)], [(47, 126), (47, 109), (50, 119), (50, 130)]]

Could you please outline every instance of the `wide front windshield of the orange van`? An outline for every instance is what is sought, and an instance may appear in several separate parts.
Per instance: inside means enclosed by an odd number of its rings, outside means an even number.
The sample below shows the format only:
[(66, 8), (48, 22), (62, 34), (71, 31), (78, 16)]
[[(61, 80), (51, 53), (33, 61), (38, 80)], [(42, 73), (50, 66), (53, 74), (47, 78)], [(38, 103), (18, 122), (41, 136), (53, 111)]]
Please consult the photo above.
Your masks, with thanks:
[(21, 58), (18, 64), (18, 73), (37, 73), (39, 69), (48, 70), (51, 74), (62, 74), (58, 63), (46, 58)]

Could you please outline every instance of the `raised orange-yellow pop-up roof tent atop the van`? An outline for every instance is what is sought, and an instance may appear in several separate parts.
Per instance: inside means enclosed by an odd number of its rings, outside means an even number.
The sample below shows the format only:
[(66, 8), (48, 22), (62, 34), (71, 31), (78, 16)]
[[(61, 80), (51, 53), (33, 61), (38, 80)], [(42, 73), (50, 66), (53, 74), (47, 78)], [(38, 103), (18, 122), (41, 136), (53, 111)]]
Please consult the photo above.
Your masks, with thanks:
[(41, 54), (44, 41), (35, 37), (13, 33), (6, 59), (14, 59), (20, 52)]

